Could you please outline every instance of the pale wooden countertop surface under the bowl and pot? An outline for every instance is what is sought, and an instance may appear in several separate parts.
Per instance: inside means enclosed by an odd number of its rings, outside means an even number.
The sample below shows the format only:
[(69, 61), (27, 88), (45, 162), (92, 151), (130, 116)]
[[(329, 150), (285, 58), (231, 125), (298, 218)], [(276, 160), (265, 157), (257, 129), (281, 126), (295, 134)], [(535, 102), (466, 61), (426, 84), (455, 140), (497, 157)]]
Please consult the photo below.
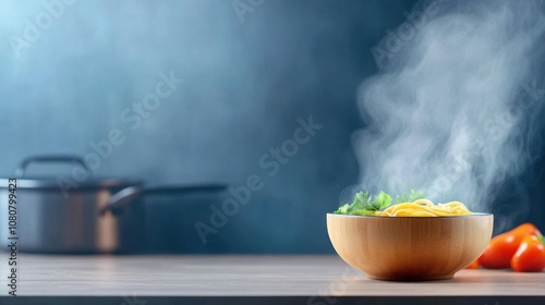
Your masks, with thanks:
[[(545, 296), (545, 272), (461, 270), (452, 280), (386, 282), (365, 278), (338, 256), (21, 254), (17, 266), (24, 296)], [(4, 290), (5, 268), (0, 272)]]

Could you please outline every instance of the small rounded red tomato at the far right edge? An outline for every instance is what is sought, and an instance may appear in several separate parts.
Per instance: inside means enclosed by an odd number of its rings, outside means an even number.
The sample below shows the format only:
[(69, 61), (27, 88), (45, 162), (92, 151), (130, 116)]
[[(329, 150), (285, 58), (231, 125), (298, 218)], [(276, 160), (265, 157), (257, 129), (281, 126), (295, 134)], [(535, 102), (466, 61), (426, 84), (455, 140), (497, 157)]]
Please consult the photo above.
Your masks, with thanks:
[(511, 259), (511, 268), (519, 272), (540, 272), (545, 268), (545, 245), (536, 235), (525, 236)]

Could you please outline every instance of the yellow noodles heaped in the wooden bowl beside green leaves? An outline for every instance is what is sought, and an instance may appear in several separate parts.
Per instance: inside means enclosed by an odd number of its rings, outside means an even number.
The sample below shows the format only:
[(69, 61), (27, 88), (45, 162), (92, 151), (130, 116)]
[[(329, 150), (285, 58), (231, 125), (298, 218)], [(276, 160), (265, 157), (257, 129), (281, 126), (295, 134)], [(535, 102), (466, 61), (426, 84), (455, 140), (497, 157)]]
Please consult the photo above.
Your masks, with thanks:
[(450, 202), (434, 205), (428, 199), (417, 199), (413, 203), (402, 203), (390, 206), (383, 211), (376, 211), (376, 216), (413, 216), (413, 217), (437, 217), (437, 216), (461, 216), (472, 215), (462, 203)]

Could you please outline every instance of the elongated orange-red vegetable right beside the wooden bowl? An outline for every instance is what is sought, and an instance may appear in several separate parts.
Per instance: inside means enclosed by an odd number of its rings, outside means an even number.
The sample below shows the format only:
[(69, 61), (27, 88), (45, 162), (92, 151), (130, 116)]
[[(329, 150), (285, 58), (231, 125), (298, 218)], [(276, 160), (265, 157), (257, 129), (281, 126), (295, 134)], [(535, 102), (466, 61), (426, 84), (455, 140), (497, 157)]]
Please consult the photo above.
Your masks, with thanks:
[(479, 264), (491, 269), (509, 268), (511, 266), (511, 258), (522, 243), (522, 240), (538, 232), (535, 225), (526, 222), (509, 232), (495, 236), (479, 258)]

